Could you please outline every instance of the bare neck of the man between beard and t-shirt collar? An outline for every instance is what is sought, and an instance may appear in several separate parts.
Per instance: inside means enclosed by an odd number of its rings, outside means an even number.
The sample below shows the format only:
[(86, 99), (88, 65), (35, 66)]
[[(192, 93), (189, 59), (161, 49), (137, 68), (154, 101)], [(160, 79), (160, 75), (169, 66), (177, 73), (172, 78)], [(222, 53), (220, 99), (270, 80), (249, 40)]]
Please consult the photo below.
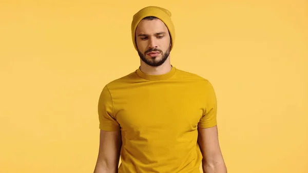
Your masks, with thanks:
[(158, 67), (152, 67), (144, 63), (142, 60), (140, 60), (140, 70), (144, 73), (150, 74), (150, 75), (161, 75), (169, 72), (171, 70), (171, 64), (170, 59), (168, 59)]

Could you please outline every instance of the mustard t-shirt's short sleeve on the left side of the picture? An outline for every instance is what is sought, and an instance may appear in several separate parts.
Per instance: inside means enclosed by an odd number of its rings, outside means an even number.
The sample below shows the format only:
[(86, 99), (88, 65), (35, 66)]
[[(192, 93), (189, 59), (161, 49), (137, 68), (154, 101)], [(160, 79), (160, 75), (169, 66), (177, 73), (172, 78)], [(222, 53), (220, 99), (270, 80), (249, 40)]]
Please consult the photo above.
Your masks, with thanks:
[(99, 98), (98, 114), (101, 130), (117, 131), (120, 129), (119, 123), (113, 116), (113, 102), (107, 85), (103, 88)]

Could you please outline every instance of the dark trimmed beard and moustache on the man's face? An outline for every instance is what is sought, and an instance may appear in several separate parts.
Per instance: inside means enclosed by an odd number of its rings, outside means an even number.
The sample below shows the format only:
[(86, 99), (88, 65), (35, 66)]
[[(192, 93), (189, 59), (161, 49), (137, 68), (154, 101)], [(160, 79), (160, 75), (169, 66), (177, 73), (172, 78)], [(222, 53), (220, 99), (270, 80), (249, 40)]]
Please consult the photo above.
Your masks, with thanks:
[[(170, 48), (171, 48), (171, 45), (169, 45), (169, 48), (167, 49), (167, 51), (164, 53), (162, 50), (159, 50), (159, 49), (149, 49), (147, 51), (145, 51), (144, 53), (142, 53), (141, 51), (138, 50), (138, 55), (140, 56), (140, 59), (147, 65), (149, 66), (152, 66), (152, 67), (158, 67), (162, 64), (164, 64), (164, 62), (167, 60), (169, 54), (170, 54)], [(159, 51), (160, 54), (162, 55), (161, 59), (159, 60), (159, 57), (158, 56), (153, 56), (153, 57), (150, 57), (149, 59), (146, 59), (146, 54), (148, 52), (151, 52), (151, 51)]]

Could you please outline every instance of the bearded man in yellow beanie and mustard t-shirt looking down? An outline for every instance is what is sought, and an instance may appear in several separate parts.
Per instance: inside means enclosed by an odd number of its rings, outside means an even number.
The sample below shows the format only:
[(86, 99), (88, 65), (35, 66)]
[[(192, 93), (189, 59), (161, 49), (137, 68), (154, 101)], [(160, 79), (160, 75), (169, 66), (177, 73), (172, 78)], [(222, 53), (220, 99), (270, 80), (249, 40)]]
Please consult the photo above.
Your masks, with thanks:
[(141, 64), (102, 90), (94, 173), (200, 173), (201, 163), (203, 172), (227, 172), (214, 89), (206, 79), (170, 64), (175, 44), (170, 17), (154, 6), (133, 16), (132, 42)]

